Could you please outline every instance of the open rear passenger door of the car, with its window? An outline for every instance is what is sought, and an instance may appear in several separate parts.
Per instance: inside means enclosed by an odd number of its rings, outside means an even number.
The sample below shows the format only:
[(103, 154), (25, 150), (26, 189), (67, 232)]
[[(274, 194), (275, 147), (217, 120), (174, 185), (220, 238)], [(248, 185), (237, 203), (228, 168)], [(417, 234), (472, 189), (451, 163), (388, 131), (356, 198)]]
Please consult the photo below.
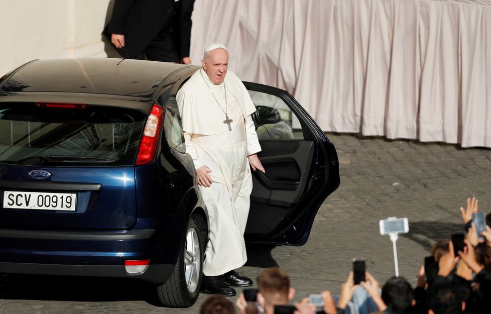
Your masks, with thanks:
[(319, 207), (339, 186), (334, 145), (290, 93), (244, 82), (266, 173), (253, 172), (247, 242), (303, 245)]

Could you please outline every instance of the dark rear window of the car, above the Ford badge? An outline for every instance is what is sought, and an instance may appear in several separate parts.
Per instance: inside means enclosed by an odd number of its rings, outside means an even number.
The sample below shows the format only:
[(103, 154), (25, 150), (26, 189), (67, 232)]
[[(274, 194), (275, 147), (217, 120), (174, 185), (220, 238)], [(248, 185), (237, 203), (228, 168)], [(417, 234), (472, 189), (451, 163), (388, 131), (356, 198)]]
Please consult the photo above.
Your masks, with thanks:
[(126, 108), (0, 104), (0, 163), (133, 165), (146, 117)]

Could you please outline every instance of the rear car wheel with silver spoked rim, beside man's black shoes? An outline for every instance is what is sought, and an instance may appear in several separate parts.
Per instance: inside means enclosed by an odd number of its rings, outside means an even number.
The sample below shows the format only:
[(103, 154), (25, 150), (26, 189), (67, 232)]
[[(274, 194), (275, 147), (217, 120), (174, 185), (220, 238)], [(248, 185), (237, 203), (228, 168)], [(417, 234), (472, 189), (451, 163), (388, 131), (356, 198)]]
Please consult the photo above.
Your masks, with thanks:
[(157, 286), (159, 300), (167, 307), (192, 306), (199, 295), (203, 273), (202, 231), (204, 220), (193, 215), (188, 221), (186, 237), (181, 246), (174, 272), (162, 285)]

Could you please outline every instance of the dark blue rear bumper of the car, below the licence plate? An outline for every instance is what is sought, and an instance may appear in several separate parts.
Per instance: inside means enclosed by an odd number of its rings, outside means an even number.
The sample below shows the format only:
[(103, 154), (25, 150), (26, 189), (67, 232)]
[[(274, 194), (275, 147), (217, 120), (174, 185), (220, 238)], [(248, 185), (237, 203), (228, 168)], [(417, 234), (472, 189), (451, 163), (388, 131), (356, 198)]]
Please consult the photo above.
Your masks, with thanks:
[[(169, 245), (173, 242), (168, 232), (157, 231), (168, 228), (141, 223), (143, 229), (127, 231), (0, 229), (0, 273), (132, 277), (163, 283), (179, 251)], [(127, 260), (150, 260), (150, 265), (143, 273), (131, 274), (124, 266)]]

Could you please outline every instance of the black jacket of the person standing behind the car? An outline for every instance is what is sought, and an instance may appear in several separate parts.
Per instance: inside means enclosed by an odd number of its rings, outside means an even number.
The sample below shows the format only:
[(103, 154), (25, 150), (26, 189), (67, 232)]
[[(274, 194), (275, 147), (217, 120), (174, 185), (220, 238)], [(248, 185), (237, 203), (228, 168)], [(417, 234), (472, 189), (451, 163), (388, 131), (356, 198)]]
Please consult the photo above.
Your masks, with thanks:
[(125, 35), (125, 51), (137, 58), (155, 36), (168, 30), (180, 58), (189, 57), (193, 7), (194, 0), (115, 0), (107, 32)]

